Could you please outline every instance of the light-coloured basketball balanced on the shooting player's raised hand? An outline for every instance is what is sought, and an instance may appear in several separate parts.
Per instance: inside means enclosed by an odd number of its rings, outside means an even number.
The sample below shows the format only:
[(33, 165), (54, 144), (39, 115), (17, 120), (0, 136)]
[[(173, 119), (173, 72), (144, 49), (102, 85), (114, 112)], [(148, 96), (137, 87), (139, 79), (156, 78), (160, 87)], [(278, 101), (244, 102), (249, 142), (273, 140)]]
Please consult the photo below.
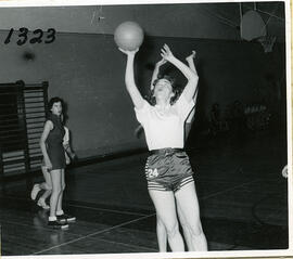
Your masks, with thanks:
[(124, 22), (114, 31), (114, 40), (123, 50), (136, 50), (143, 41), (143, 30), (135, 22)]

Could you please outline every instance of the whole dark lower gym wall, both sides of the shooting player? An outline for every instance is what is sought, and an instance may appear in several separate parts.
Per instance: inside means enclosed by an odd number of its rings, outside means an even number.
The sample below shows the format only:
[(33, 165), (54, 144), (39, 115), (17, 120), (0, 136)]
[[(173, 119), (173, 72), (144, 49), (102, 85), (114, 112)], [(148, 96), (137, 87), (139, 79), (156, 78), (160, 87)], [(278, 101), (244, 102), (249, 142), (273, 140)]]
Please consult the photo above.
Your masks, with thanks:
[[(0, 36), (4, 38), (7, 33)], [(164, 42), (180, 59), (192, 49), (198, 51), (198, 116), (207, 116), (213, 102), (256, 102), (263, 93), (270, 104), (276, 100), (275, 86), (266, 82), (265, 75), (282, 77), (284, 46), (277, 44), (273, 53), (265, 54), (257, 43), (164, 37), (146, 38), (138, 55), (137, 80), (143, 94)], [(33, 59), (25, 57), (25, 52), (31, 53)], [(49, 96), (59, 95), (66, 101), (67, 126), (79, 157), (145, 146), (133, 134), (138, 122), (124, 86), (126, 57), (117, 50), (113, 36), (59, 34), (51, 44), (3, 46), (0, 55), (2, 82), (48, 80)], [(182, 77), (179, 83), (183, 83)]]

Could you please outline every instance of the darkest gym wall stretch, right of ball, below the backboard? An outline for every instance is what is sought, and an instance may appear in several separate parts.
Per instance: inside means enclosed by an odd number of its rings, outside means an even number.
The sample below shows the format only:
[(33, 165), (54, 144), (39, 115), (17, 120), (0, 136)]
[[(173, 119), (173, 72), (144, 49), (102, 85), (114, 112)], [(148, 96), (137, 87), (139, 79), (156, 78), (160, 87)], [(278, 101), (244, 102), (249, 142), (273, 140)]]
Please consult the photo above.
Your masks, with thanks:
[[(167, 42), (174, 53), (182, 61), (196, 51), (195, 66), (200, 76), (199, 95), (195, 117), (196, 128), (207, 127), (213, 103), (220, 104), (222, 113), (234, 101), (244, 106), (253, 104), (266, 105), (272, 114), (271, 124), (285, 121), (285, 46), (277, 43), (273, 51), (265, 53), (257, 42), (208, 40), (189, 38), (148, 38), (139, 53), (141, 68), (139, 77), (143, 85), (152, 75), (151, 65), (160, 59), (160, 47)], [(149, 68), (149, 69), (145, 69)], [(163, 68), (164, 70), (164, 68)], [(179, 78), (171, 66), (165, 70)], [(146, 86), (149, 88), (149, 86)], [(146, 91), (145, 91), (146, 92)]]

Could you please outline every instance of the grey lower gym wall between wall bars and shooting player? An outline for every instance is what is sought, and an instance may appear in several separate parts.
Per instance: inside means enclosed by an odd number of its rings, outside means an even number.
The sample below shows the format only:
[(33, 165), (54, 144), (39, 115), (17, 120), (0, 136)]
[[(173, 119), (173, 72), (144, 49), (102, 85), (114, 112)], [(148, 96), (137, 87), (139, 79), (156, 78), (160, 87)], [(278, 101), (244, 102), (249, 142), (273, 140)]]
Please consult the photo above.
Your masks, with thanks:
[[(34, 60), (26, 60), (25, 52)], [(65, 100), (67, 126), (79, 157), (140, 145), (133, 137), (137, 124), (124, 87), (124, 56), (113, 36), (62, 34), (52, 44), (11, 43), (0, 53), (3, 82), (48, 80), (49, 98)]]

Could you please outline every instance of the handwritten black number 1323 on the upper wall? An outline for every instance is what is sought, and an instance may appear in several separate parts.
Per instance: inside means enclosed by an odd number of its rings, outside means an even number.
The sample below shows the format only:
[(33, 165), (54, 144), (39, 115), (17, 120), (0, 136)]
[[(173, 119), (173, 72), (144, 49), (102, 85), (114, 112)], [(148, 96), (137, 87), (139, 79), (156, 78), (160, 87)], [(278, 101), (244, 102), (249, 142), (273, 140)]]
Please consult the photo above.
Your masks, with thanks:
[[(7, 39), (4, 41), (5, 44), (8, 44), (10, 42), (10, 39), (11, 39), (13, 31), (14, 31), (14, 29), (11, 28)], [(49, 28), (47, 30), (46, 40), (43, 42), (44, 43), (52, 43), (55, 40), (55, 33), (56, 33), (55, 29)], [(33, 35), (34, 35), (34, 37), (31, 39), (29, 39), (29, 43), (35, 44), (35, 43), (42, 42), (43, 31), (41, 29), (35, 29), (33, 31)], [(28, 40), (28, 29), (25, 27), (20, 28), (20, 33), (17, 36), (18, 36), (18, 40), (16, 41), (17, 46), (25, 44)]]

